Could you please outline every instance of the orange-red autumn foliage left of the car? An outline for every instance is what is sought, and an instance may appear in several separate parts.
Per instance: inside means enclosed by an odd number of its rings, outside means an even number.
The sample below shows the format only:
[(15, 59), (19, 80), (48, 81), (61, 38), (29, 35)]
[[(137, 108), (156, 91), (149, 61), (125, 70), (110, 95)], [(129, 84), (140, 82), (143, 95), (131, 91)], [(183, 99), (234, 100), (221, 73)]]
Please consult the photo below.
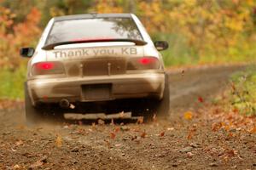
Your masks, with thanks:
[(23, 23), (14, 23), (16, 14), (9, 8), (0, 7), (0, 67), (15, 68), (20, 64), (19, 49), (32, 45), (41, 30), (38, 23), (41, 14), (32, 8)]

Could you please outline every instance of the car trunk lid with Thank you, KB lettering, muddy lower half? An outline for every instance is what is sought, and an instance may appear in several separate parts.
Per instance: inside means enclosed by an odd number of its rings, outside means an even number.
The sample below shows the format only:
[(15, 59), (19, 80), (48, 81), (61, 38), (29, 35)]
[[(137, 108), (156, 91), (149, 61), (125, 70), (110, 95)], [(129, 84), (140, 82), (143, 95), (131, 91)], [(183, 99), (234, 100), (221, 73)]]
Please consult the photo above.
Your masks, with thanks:
[(142, 57), (143, 46), (133, 42), (93, 42), (47, 50), (48, 61), (61, 61), (68, 77), (125, 74), (127, 60)]

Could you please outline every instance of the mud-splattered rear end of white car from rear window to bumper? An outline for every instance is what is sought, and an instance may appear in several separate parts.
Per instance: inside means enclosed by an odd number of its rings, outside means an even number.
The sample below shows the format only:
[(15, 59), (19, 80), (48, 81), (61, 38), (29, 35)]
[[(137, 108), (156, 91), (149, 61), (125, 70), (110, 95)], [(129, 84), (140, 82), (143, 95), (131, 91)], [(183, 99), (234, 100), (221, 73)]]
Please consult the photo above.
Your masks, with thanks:
[[(55, 19), (32, 60), (27, 83), (33, 103), (160, 99), (164, 72), (158, 53), (148, 42), (115, 42), (120, 37), (144, 41), (131, 14)], [(55, 42), (70, 43), (48, 48)]]

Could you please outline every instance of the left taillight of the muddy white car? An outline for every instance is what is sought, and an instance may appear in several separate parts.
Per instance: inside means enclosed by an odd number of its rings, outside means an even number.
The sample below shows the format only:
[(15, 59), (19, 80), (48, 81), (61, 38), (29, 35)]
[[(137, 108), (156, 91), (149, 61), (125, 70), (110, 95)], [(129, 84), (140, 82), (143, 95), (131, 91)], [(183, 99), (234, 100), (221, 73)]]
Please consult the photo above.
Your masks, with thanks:
[(58, 61), (39, 62), (32, 65), (32, 75), (64, 74), (64, 66)]

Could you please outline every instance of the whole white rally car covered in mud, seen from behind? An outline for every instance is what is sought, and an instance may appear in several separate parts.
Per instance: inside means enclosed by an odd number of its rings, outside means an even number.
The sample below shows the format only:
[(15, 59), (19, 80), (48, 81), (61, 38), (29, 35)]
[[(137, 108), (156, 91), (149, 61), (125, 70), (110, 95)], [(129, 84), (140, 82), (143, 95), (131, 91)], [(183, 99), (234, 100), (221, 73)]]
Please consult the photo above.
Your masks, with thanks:
[(169, 86), (160, 50), (134, 14), (55, 17), (38, 47), (21, 48), (27, 65), (26, 119), (64, 113), (167, 114)]

